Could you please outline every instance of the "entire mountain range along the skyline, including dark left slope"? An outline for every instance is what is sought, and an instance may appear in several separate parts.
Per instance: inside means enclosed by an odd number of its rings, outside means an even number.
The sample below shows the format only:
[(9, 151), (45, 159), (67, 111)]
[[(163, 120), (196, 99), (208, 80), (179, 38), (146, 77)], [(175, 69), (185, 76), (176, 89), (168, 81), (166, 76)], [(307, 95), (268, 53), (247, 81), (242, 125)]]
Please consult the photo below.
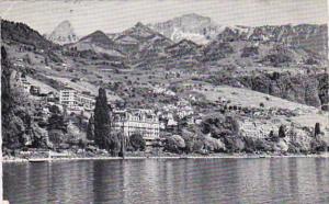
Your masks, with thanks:
[[(95, 31), (81, 38), (68, 21), (61, 22), (46, 38), (36, 31), (29, 32), (30, 27), (22, 23), (2, 21), (1, 27), (5, 41), (42, 45), (45, 49), (61, 46), (80, 52), (79, 56), (125, 61), (131, 67), (178, 66), (178, 63), (190, 67), (223, 61), (242, 67), (259, 64), (277, 67), (319, 64), (326, 61), (328, 52), (327, 25), (225, 26), (194, 13), (163, 23), (138, 22), (115, 34)], [(22, 31), (13, 31), (16, 27)]]

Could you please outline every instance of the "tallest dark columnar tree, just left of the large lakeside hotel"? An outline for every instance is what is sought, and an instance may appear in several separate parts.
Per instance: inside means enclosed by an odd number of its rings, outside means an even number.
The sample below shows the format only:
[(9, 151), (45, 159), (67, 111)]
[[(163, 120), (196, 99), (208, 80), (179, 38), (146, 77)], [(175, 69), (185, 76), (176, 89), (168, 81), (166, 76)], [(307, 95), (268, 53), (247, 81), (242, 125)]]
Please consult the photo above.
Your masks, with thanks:
[(99, 89), (94, 107), (94, 143), (100, 148), (105, 149), (111, 146), (107, 143), (111, 134), (110, 109), (107, 106), (106, 92)]

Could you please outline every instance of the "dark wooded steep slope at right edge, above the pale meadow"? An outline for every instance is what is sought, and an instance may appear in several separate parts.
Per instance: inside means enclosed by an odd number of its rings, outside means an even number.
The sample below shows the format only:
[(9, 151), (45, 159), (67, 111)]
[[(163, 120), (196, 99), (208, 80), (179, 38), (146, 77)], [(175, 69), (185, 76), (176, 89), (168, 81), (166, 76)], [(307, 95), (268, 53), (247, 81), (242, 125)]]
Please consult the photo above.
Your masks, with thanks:
[(243, 77), (216, 76), (215, 84), (243, 87), (253, 91), (271, 94), (322, 110), (329, 110), (328, 73), (260, 73)]

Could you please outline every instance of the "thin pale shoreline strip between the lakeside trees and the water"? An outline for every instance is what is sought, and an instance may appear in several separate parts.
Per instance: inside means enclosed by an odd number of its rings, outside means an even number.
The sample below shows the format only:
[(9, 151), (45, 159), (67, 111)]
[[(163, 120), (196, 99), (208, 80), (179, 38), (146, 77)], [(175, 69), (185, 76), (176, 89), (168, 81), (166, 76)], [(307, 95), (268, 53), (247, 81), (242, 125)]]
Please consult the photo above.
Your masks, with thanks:
[(213, 155), (213, 156), (128, 156), (122, 157), (70, 157), (70, 158), (33, 158), (2, 159), (2, 163), (11, 162), (46, 162), (46, 161), (83, 161), (83, 160), (145, 160), (145, 159), (271, 159), (271, 158), (329, 158), (329, 152), (311, 155)]

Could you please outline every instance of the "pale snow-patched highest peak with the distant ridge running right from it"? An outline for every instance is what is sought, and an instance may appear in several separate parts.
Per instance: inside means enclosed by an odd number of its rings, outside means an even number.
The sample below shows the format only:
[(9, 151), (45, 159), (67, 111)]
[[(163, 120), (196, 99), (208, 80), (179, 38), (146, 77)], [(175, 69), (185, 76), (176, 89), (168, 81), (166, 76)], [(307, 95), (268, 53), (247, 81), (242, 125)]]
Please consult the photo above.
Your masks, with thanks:
[(321, 54), (328, 52), (326, 24), (228, 26), (217, 24), (211, 18), (192, 13), (148, 26), (174, 42), (183, 38), (197, 44), (207, 44), (213, 39), (279, 42), (286, 46), (307, 48)]

